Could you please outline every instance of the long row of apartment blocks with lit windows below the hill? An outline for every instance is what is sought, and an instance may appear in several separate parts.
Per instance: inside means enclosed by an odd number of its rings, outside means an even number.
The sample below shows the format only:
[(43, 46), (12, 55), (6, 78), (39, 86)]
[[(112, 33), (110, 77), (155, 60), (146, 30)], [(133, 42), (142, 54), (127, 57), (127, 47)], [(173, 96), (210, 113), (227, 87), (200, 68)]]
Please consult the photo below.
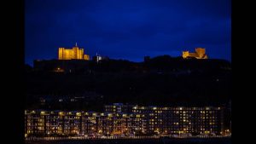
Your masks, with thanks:
[[(230, 134), (228, 129), (224, 130), (225, 133), (223, 134), (221, 123), (214, 124), (212, 122), (212, 120), (220, 122), (224, 120), (220, 117), (223, 111), (219, 107), (130, 107), (130, 110), (122, 110), (122, 107), (127, 107), (125, 105), (119, 107), (121, 107), (119, 112), (114, 112), (111, 107), (105, 107), (106, 112), (26, 110), (26, 137), (37, 133), (47, 135), (109, 134), (120, 136), (124, 134), (131, 135), (136, 132), (138, 132), (138, 135), (140, 133), (153, 135), (154, 132), (158, 135), (164, 135), (168, 132), (180, 135), (193, 133), (194, 130), (206, 135), (212, 133), (216, 135)], [(155, 109), (158, 111), (153, 111)], [(177, 109), (180, 112), (177, 112)], [(133, 110), (137, 110), (137, 112), (133, 112)], [(202, 116), (201, 113), (206, 110), (209, 112), (208, 116)], [(127, 111), (132, 113), (125, 113)], [(216, 112), (219, 114), (216, 115)], [(172, 115), (172, 117), (166, 117), (167, 115)], [(202, 121), (201, 119), (205, 120)], [(194, 128), (189, 129), (188, 124), (193, 125)]]

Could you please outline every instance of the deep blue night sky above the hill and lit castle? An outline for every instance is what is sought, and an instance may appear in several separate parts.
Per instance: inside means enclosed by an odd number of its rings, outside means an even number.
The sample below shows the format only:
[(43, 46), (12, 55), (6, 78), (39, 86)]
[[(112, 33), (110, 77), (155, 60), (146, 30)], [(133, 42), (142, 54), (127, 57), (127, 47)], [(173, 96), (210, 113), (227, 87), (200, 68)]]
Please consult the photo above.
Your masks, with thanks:
[(26, 0), (25, 56), (56, 59), (77, 42), (89, 55), (143, 61), (195, 47), (231, 60), (230, 0)]

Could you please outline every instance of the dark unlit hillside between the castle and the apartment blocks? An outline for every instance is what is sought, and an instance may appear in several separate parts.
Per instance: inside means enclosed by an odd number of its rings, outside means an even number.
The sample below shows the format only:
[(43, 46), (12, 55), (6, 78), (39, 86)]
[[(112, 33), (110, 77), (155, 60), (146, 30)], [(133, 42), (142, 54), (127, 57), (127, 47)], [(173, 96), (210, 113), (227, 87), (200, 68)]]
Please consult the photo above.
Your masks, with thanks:
[(218, 105), (230, 101), (231, 64), (226, 60), (184, 60), (162, 55), (144, 62), (87, 61), (74, 72), (33, 71), (27, 67), (26, 87), (30, 101), (34, 95), (58, 97), (90, 92), (101, 95), (92, 96), (91, 101), (95, 97), (102, 104), (150, 105), (154, 101), (159, 105)]

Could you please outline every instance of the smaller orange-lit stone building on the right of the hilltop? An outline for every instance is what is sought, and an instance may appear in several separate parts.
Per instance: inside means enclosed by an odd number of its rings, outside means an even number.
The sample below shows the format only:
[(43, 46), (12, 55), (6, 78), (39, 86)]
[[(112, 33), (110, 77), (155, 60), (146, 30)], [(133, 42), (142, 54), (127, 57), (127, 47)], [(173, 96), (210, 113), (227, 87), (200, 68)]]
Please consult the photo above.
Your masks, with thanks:
[(208, 59), (206, 55), (206, 49), (195, 48), (195, 53), (189, 53), (189, 51), (183, 51), (183, 58), (196, 58), (196, 59)]

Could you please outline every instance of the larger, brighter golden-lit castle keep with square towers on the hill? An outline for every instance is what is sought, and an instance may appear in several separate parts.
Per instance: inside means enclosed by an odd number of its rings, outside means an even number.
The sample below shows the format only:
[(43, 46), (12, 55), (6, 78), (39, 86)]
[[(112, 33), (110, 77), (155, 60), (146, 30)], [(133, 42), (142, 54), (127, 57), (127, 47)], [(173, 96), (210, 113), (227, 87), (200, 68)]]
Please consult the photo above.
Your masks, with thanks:
[(84, 55), (84, 49), (76, 43), (73, 49), (59, 48), (59, 60), (90, 60), (90, 55)]

